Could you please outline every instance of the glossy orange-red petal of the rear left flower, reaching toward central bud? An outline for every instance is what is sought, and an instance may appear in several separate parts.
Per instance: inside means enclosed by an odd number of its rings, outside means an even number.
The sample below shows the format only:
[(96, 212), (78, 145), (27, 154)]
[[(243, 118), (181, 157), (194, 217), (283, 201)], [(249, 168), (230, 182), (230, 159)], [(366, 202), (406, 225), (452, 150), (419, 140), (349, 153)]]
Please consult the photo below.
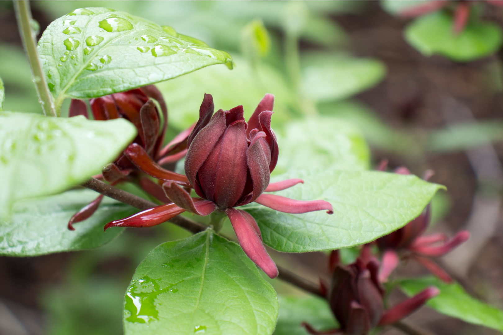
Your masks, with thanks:
[(129, 158), (136, 167), (138, 167), (138, 169), (154, 178), (162, 180), (175, 180), (184, 186), (191, 187), (186, 176), (161, 168), (152, 161), (145, 150), (136, 143), (130, 144), (129, 147), (124, 150), (124, 155), (126, 155), (126, 157)]

